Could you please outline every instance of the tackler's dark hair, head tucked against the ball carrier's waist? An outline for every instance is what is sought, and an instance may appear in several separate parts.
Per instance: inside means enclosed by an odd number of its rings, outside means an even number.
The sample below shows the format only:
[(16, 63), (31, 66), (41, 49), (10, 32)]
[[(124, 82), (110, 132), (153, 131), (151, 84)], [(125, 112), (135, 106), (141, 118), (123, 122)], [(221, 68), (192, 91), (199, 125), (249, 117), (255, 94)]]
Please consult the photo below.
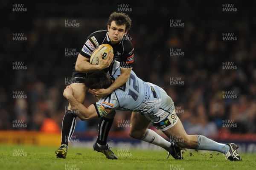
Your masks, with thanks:
[(100, 89), (108, 88), (112, 84), (112, 81), (105, 71), (102, 70), (87, 74), (84, 84), (87, 88)]

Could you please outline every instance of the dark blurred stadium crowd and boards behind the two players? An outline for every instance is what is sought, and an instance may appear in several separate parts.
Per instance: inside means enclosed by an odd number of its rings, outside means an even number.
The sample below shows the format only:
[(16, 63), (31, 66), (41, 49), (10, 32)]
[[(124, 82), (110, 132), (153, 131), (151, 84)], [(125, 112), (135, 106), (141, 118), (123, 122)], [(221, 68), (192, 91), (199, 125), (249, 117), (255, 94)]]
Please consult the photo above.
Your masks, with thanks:
[[(76, 56), (113, 11), (124, 11), (132, 20), (133, 70), (166, 90), (187, 133), (256, 152), (255, 1), (61, 2), (0, 1), (1, 143), (60, 144), (68, 106), (62, 92)], [(87, 94), (84, 105), (95, 101)], [(128, 136), (131, 114), (117, 113), (111, 142), (132, 147), (139, 141)], [(98, 121), (77, 119), (72, 144), (92, 147)]]

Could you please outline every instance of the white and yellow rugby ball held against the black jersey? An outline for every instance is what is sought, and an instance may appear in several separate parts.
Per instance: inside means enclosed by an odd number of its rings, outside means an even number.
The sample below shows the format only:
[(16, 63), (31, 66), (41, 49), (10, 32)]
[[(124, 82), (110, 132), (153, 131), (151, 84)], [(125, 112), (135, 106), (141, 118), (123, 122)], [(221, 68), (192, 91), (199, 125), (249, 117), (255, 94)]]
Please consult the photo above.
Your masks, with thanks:
[(93, 65), (99, 64), (99, 57), (102, 55), (102, 59), (107, 59), (109, 54), (113, 53), (113, 48), (109, 44), (102, 44), (95, 48), (90, 57), (90, 63)]

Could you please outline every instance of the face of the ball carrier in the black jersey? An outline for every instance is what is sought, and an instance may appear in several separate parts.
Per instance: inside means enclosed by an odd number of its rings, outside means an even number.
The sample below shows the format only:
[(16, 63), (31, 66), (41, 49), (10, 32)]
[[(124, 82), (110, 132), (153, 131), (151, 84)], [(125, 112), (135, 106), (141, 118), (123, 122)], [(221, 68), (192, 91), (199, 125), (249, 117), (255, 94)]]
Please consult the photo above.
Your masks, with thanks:
[(118, 26), (115, 21), (111, 22), (111, 26), (108, 25), (108, 37), (112, 44), (120, 42), (126, 33), (124, 25)]

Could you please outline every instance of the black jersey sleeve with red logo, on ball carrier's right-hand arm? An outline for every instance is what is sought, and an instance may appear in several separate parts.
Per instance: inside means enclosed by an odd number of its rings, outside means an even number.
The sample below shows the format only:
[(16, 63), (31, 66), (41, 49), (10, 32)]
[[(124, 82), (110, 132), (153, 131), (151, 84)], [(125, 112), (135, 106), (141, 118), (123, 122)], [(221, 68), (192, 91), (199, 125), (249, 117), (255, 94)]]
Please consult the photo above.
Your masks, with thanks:
[(121, 68), (132, 68), (134, 63), (134, 48), (131, 42), (127, 42), (126, 48), (124, 49), (124, 54), (120, 60)]

